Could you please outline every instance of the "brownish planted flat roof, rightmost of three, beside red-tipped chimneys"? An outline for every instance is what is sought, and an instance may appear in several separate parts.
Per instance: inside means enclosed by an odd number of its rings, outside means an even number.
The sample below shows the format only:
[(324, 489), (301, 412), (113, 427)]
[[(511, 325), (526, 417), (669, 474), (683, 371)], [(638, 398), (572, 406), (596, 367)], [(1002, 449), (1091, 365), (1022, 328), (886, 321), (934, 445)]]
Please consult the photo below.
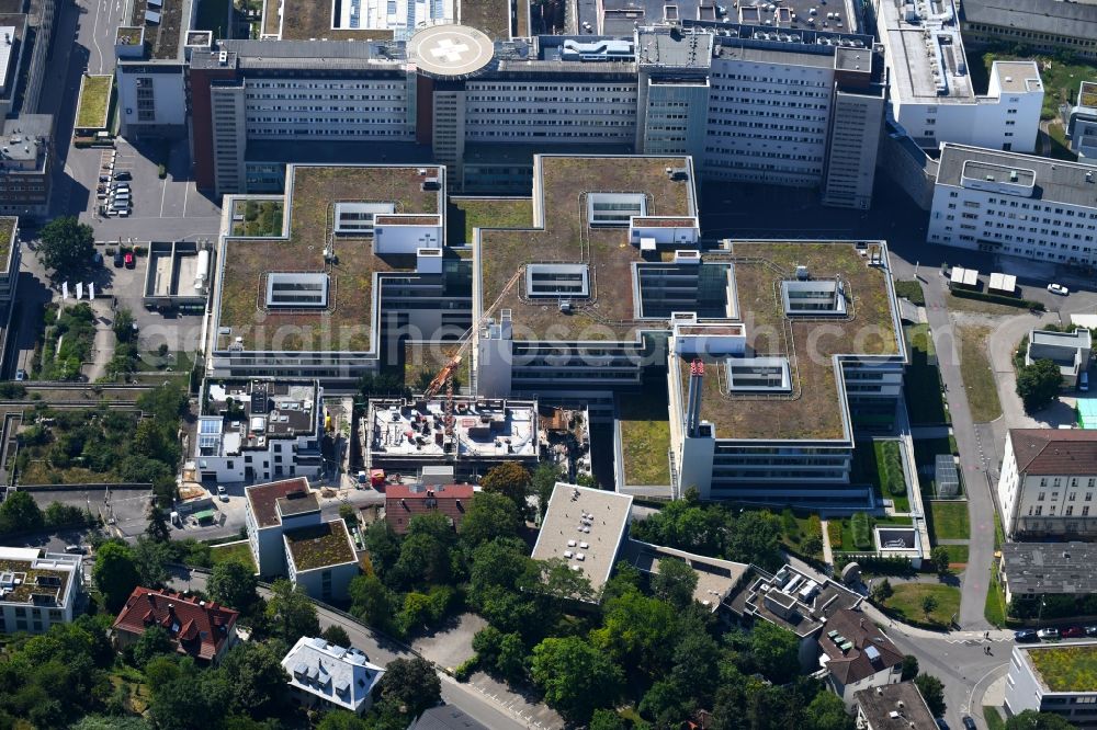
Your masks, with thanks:
[[(870, 266), (869, 243), (778, 241), (732, 244), (738, 311), (747, 326), (754, 356), (787, 356), (792, 392), (788, 396), (728, 395), (723, 363), (705, 368), (702, 420), (713, 423), (717, 438), (840, 440), (846, 437), (844, 403), (837, 385), (835, 355), (898, 355), (900, 333), (891, 280), (885, 267)], [(862, 255), (862, 252), (866, 255)], [(706, 256), (708, 259), (709, 256)], [(715, 258), (713, 255), (713, 258)], [(813, 278), (840, 277), (847, 296), (844, 318), (789, 318), (780, 282), (795, 278), (796, 266)], [(679, 360), (680, 402), (686, 402), (689, 363)]]

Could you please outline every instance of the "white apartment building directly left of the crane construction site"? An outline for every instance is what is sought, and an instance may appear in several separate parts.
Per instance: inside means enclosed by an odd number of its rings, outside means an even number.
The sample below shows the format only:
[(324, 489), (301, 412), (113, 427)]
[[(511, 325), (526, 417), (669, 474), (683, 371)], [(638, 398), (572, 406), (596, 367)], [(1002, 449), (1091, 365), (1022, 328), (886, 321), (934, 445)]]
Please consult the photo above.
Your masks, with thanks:
[(201, 480), (318, 476), (323, 392), (315, 380), (207, 380), (193, 459)]

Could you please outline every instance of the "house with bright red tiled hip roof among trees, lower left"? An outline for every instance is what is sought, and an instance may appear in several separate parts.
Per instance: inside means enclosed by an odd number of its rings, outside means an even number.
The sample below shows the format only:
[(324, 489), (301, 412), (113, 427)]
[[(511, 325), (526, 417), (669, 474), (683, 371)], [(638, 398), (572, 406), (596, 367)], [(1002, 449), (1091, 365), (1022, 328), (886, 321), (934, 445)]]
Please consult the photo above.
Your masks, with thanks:
[(239, 615), (213, 602), (138, 585), (112, 628), (115, 645), (124, 649), (157, 624), (171, 637), (176, 651), (200, 663), (217, 664), (239, 639), (236, 634)]

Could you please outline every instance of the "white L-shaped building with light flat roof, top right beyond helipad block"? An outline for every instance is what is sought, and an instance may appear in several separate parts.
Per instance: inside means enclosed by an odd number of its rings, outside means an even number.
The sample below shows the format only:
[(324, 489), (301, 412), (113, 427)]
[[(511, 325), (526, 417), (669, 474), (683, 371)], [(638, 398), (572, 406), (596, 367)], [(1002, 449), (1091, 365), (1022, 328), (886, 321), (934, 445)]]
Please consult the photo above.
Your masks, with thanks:
[(1036, 149), (1043, 104), (1036, 61), (996, 61), (986, 94), (977, 95), (953, 0), (875, 0), (873, 7), (892, 117), (918, 145)]

